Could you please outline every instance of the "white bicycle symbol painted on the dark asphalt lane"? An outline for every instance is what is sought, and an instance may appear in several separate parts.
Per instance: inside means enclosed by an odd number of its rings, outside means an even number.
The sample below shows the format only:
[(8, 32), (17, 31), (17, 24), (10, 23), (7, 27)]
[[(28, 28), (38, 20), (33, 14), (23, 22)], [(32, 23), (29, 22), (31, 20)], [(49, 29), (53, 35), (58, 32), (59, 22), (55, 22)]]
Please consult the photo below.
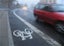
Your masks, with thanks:
[(26, 40), (26, 38), (33, 39), (32, 33), (33, 30), (26, 28), (24, 31), (15, 30), (13, 35), (16, 37), (21, 37), (22, 40)]

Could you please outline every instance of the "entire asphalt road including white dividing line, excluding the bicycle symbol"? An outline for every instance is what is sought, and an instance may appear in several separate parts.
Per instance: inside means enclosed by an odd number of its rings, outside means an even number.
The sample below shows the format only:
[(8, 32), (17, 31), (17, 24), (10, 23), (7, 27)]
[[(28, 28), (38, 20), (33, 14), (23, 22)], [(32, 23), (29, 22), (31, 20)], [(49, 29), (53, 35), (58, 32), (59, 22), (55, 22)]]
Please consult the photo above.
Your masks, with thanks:
[[(9, 21), (15, 46), (60, 46), (60, 44), (61, 46), (64, 45), (63, 34), (58, 33), (53, 26), (47, 23), (36, 22), (33, 12), (31, 10), (11, 10), (9, 15)], [(32, 39), (26, 38), (25, 40), (22, 40), (22, 37), (17, 37), (13, 34), (13, 32), (16, 30), (22, 32), (26, 28), (33, 30), (33, 34), (31, 34), (33, 37)], [(35, 28), (37, 28), (38, 31), (35, 30)], [(42, 32), (42, 34), (39, 32)]]

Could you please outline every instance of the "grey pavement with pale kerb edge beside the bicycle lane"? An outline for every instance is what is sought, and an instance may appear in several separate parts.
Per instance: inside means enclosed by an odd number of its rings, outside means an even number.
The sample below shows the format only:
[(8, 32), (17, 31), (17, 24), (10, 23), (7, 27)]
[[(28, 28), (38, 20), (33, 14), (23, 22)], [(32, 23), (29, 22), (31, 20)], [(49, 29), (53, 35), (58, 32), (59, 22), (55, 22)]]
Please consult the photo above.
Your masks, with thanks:
[(8, 10), (0, 10), (0, 46), (12, 46)]

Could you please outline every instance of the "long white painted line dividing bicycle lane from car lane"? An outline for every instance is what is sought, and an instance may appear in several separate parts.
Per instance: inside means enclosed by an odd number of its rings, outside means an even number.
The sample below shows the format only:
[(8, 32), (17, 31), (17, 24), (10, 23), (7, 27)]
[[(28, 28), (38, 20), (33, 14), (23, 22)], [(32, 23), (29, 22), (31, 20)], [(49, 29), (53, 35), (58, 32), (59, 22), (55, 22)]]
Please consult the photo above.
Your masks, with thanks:
[(57, 41), (55, 41), (54, 39), (52, 39), (51, 37), (49, 37), (48, 35), (46, 35), (45, 33), (43, 33), (42, 31), (40, 31), (38, 28), (36, 28), (35, 26), (33, 26), (32, 24), (30, 24), (29, 22), (27, 22), (26, 20), (24, 20), (23, 18), (21, 18), (19, 15), (17, 15), (15, 12), (18, 9), (13, 11), (13, 14), (20, 20), (22, 21), (24, 24), (26, 24), (28, 27), (30, 27), (32, 30), (34, 30), (34, 32), (36, 32), (39, 36), (41, 36), (47, 43), (49, 43), (51, 46), (61, 46), (60, 43), (58, 43)]

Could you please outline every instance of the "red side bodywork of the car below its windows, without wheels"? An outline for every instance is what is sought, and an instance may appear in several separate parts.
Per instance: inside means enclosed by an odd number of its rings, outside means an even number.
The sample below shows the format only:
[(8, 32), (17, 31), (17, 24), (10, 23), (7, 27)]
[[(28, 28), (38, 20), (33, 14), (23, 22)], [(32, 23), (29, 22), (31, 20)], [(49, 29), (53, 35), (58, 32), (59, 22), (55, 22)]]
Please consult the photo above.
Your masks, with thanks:
[(57, 21), (64, 21), (64, 12), (48, 12), (41, 9), (34, 9), (34, 14), (36, 14), (39, 19), (45, 20), (45, 22), (50, 24), (55, 24)]

